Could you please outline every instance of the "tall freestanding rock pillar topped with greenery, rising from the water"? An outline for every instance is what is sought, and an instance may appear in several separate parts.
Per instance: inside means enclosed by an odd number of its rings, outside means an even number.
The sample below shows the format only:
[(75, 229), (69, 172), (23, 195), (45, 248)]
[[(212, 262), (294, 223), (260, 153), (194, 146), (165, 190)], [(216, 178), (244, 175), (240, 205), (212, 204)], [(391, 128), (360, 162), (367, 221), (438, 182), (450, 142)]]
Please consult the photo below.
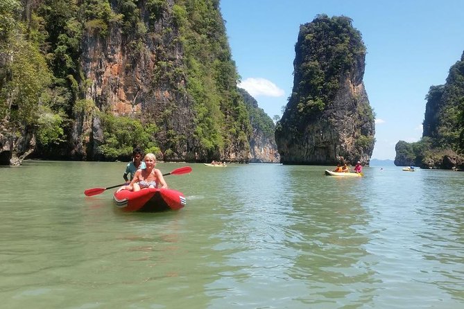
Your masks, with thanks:
[(283, 164), (369, 164), (375, 123), (363, 85), (366, 50), (347, 17), (300, 27), (293, 93), (275, 140)]

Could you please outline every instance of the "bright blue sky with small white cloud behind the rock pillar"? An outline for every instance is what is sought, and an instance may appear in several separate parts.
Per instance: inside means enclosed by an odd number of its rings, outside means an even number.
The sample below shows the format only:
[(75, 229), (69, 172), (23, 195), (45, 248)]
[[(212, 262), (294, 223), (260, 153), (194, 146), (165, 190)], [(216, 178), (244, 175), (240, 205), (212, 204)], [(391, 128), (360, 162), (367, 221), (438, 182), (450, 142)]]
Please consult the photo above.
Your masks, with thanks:
[[(440, 2), (440, 4), (438, 4)], [(241, 82), (271, 118), (293, 88), (295, 43), (316, 15), (346, 16), (367, 49), (364, 86), (375, 112), (372, 159), (395, 159), (398, 141), (422, 136), (425, 96), (464, 51), (461, 0), (221, 0)]]

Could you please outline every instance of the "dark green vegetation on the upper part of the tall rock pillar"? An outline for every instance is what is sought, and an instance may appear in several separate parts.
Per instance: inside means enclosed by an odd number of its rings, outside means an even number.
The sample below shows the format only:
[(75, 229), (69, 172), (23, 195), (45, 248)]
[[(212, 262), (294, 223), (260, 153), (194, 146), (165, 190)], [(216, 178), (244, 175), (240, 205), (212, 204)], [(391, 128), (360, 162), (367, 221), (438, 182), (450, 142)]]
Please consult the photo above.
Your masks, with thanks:
[(348, 17), (318, 15), (300, 26), (295, 49), (293, 93), (288, 109), (302, 118), (325, 109), (334, 100), (342, 78), (356, 66), (356, 57), (366, 48), (361, 33)]

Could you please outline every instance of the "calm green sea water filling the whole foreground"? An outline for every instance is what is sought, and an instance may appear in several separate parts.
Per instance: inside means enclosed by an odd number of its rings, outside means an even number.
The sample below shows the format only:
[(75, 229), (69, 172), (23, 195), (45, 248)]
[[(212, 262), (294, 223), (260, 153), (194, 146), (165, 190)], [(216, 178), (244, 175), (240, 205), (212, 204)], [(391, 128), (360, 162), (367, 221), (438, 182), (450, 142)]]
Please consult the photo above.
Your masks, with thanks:
[(464, 173), (185, 165), (165, 213), (83, 194), (124, 163), (0, 168), (0, 306), (464, 308)]

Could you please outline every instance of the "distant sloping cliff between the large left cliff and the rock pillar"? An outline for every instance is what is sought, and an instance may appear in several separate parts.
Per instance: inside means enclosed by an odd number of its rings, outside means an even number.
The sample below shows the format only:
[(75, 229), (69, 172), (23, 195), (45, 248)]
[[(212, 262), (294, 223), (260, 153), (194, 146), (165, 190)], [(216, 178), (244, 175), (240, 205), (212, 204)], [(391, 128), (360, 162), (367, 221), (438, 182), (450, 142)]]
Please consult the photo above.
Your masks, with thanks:
[(279, 163), (280, 154), (275, 144), (275, 125), (273, 120), (258, 107), (257, 100), (244, 89), (239, 88), (243, 101), (248, 109), (252, 134), (250, 136), (251, 163)]

